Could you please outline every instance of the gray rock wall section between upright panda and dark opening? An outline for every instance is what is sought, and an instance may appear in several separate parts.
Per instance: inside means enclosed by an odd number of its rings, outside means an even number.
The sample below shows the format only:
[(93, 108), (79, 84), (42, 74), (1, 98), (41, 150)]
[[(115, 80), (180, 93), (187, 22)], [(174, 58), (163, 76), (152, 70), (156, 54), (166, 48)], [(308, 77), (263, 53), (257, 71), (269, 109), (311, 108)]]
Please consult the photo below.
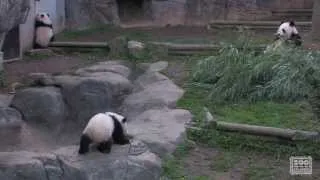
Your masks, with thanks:
[(116, 0), (66, 0), (65, 3), (68, 28), (120, 23)]

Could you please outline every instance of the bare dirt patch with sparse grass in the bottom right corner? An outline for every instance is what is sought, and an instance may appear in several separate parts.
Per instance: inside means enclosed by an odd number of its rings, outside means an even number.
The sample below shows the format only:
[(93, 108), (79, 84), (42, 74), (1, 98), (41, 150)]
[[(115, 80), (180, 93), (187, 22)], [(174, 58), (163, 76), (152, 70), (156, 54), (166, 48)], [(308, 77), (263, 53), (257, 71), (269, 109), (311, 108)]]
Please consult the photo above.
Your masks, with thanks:
[(316, 180), (320, 177), (318, 160), (312, 162), (311, 176), (291, 176), (289, 159), (277, 160), (275, 157), (249, 153), (234, 153), (230, 156), (228, 152), (199, 145), (182, 161), (184, 172), (188, 176), (201, 176), (210, 180)]

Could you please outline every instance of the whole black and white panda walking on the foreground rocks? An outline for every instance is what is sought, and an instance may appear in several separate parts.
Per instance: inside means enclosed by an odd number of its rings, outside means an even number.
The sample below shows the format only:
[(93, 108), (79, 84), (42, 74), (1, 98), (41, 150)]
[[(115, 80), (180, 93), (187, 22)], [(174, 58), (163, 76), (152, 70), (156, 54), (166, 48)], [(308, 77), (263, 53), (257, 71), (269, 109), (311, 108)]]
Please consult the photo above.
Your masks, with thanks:
[(82, 132), (78, 153), (87, 153), (92, 143), (97, 144), (97, 149), (102, 153), (110, 153), (113, 143), (129, 144), (126, 124), (127, 119), (114, 112), (94, 115)]

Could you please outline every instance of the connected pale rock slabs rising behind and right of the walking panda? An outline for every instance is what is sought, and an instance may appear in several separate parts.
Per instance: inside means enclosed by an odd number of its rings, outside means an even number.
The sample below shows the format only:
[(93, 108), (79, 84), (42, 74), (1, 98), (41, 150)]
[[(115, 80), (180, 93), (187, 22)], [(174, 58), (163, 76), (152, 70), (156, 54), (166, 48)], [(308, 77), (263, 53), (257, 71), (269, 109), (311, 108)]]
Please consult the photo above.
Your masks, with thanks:
[[(184, 91), (159, 73), (163, 62), (144, 65), (147, 71), (134, 81), (134, 93), (123, 102), (122, 112), (129, 119), (129, 134), (146, 143), (160, 157), (172, 153), (181, 142), (189, 111), (174, 109)], [(161, 65), (162, 68), (155, 68)]]

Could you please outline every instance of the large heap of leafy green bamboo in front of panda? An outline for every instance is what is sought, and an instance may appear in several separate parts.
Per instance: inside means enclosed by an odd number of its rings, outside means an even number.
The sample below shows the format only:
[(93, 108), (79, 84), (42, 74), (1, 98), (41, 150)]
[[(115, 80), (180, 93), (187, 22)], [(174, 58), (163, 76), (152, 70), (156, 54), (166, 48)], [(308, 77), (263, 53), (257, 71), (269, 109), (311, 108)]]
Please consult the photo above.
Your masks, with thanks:
[(319, 52), (288, 47), (257, 55), (250, 40), (241, 37), (239, 42), (242, 48), (224, 45), (217, 56), (200, 60), (194, 70), (193, 85), (210, 90), (213, 101), (293, 102), (318, 89)]

